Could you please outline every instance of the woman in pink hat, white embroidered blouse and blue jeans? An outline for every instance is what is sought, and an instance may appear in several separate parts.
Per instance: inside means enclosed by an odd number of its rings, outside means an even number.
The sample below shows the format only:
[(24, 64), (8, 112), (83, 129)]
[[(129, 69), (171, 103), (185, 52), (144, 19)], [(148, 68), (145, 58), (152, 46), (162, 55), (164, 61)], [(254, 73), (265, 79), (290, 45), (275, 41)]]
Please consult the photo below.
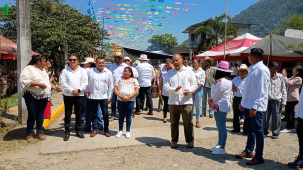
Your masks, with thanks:
[(217, 71), (215, 74), (215, 83), (211, 88), (211, 98), (209, 104), (214, 110), (216, 125), (218, 128), (218, 145), (210, 149), (212, 154), (226, 154), (225, 145), (227, 140), (226, 117), (230, 112), (230, 91), (232, 70), (228, 69), (228, 62), (221, 61), (218, 67), (214, 67)]

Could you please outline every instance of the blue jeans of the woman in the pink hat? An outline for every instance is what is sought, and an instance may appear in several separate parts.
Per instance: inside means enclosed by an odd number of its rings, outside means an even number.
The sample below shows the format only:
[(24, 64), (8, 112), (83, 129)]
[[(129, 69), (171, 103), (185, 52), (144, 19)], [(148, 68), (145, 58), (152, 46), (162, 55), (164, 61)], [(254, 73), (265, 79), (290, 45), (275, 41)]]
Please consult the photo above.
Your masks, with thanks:
[(219, 111), (219, 108), (217, 111), (215, 111), (215, 120), (216, 125), (218, 128), (218, 144), (221, 146), (225, 146), (226, 140), (227, 140), (227, 129), (226, 129), (226, 112)]

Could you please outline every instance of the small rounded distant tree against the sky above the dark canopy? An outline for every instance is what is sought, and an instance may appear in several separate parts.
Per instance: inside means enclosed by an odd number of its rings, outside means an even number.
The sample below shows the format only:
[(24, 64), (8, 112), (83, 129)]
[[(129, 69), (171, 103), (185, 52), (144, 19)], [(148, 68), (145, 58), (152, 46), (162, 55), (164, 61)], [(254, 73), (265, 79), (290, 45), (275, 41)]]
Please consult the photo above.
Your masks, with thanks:
[(147, 48), (148, 51), (163, 50), (178, 45), (177, 37), (173, 34), (152, 35), (148, 42), (151, 43)]

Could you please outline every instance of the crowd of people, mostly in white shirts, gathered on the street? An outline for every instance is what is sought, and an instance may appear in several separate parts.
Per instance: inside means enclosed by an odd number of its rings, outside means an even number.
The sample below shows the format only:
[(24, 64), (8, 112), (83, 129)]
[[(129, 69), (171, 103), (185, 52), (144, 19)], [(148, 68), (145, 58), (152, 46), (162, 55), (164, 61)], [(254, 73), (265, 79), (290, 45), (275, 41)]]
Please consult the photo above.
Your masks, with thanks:
[[(119, 114), (119, 128), (115, 137), (123, 135), (123, 124), (126, 119), (125, 136), (130, 138), (132, 118), (141, 114), (145, 99), (147, 114), (153, 115), (151, 91), (158, 87), (157, 111), (160, 112), (163, 106), (163, 123), (167, 122), (169, 112), (171, 148), (178, 147), (181, 116), (187, 148), (194, 147), (194, 116), (195, 127), (200, 128), (200, 119), (206, 116), (208, 105), (209, 117), (215, 118), (218, 129), (218, 141), (210, 151), (215, 155), (226, 154), (227, 114), (232, 107), (231, 132), (239, 133), (240, 124), (243, 123), (243, 133), (247, 135), (245, 149), (235, 155), (235, 158), (252, 158), (247, 165), (262, 164), (265, 162), (264, 138), (269, 132), (272, 133), (273, 139), (277, 139), (280, 133), (295, 132), (294, 116), (297, 115), (300, 153), (295, 162), (288, 165), (292, 168), (303, 167), (303, 103), (299, 100), (302, 98), (299, 93), (302, 87), (303, 68), (296, 66), (293, 69), (293, 76), (287, 78), (285, 69), (282, 73), (277, 72), (279, 67), (276, 62), (269, 62), (266, 67), (263, 64), (263, 56), (262, 49), (253, 48), (248, 56), (250, 67), (245, 64), (238, 67), (236, 64), (229, 69), (229, 63), (226, 61), (221, 61), (213, 67), (215, 62), (209, 57), (205, 57), (204, 60), (194, 59), (193, 67), (190, 67), (188, 59), (175, 54), (172, 59), (166, 59), (165, 64), (157, 70), (157, 66), (153, 66), (145, 54), (134, 63), (129, 57), (123, 58), (121, 52), (115, 52), (114, 63), (109, 69), (105, 67), (105, 59), (100, 57), (96, 60), (87, 58), (81, 63), (84, 65), (84, 68), (81, 68), (78, 57), (72, 55), (69, 57), (70, 66), (60, 73), (59, 78), (64, 90), (65, 105), (63, 140), (68, 141), (70, 138), (73, 112), (76, 115), (77, 137), (85, 137), (81, 132), (81, 124), (84, 121), (83, 131), (90, 132), (90, 137), (98, 135), (99, 131), (104, 131), (104, 136), (110, 137), (109, 123), (117, 117), (116, 108)], [(34, 141), (35, 121), (37, 138), (46, 139), (42, 134), (43, 112), (51, 96), (51, 89), (61, 90), (52, 84), (53, 73), (47, 74), (45, 70), (48, 68), (44, 69), (45, 63), (44, 56), (33, 56), (30, 64), (20, 75), (23, 97), (29, 113), (28, 142)], [(295, 105), (298, 102), (299, 107), (295, 114)], [(108, 111), (110, 103), (111, 115)], [(281, 120), (284, 107), (286, 116)], [(287, 121), (286, 129), (280, 130), (281, 121), (284, 120)]]

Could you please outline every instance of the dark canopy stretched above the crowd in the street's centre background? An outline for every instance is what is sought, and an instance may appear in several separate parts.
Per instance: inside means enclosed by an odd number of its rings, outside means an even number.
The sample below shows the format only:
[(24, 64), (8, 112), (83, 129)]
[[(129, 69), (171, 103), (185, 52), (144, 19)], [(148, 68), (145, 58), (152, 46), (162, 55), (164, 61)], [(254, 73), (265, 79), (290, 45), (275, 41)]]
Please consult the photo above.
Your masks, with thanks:
[(148, 56), (149, 59), (167, 59), (167, 58), (172, 58), (173, 55), (171, 54), (161, 54), (158, 51), (154, 52), (154, 51), (145, 51), (145, 50), (137, 50), (137, 49), (133, 49), (133, 48), (126, 48), (123, 47), (122, 50), (122, 55), (123, 56), (128, 56), (128, 57), (135, 57), (135, 58), (139, 58), (141, 54), (146, 54)]

